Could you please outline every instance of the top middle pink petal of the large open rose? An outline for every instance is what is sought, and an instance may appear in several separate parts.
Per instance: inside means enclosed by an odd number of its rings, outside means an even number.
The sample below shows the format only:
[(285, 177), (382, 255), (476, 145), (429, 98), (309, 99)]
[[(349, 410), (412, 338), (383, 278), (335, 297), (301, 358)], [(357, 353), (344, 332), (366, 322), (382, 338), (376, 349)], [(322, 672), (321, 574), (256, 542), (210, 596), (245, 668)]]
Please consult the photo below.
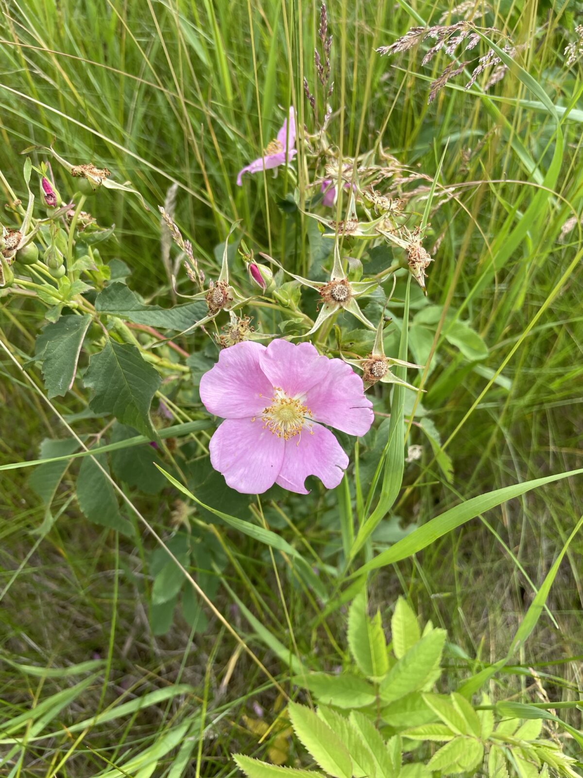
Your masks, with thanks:
[(271, 341), (260, 354), (260, 366), (271, 384), (283, 389), (290, 397), (305, 394), (314, 384), (323, 380), (330, 359), (320, 356), (311, 343)]

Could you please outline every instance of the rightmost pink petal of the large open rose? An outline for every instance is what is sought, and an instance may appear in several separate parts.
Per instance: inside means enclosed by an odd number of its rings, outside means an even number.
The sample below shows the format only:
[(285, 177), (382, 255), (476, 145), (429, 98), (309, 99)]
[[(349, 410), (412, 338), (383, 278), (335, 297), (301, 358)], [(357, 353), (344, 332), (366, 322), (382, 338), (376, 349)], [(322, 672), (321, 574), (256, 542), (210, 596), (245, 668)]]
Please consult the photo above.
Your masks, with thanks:
[[(266, 356), (264, 353), (261, 359)], [(326, 375), (308, 391), (305, 405), (316, 422), (349, 435), (368, 433), (375, 418), (361, 377), (342, 359), (328, 360)]]

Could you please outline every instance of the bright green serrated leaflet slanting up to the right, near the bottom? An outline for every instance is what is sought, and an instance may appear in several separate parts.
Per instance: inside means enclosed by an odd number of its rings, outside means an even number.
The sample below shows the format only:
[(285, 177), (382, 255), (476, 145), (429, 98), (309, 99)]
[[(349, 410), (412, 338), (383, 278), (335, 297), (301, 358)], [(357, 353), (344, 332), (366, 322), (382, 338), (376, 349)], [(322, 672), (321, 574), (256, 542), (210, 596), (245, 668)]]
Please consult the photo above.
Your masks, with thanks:
[(439, 666), (445, 643), (445, 630), (435, 629), (411, 647), (389, 670), (380, 685), (384, 703), (423, 689)]

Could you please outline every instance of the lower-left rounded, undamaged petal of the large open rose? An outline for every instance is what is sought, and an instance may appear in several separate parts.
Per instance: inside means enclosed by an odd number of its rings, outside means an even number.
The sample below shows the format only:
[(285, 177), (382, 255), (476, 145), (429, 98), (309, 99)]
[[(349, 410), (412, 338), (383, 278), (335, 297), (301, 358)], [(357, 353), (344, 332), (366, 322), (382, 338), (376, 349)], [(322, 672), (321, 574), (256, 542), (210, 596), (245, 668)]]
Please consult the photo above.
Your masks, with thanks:
[(225, 419), (211, 437), (211, 464), (231, 489), (261, 494), (274, 485), (285, 441), (264, 429), (261, 419)]

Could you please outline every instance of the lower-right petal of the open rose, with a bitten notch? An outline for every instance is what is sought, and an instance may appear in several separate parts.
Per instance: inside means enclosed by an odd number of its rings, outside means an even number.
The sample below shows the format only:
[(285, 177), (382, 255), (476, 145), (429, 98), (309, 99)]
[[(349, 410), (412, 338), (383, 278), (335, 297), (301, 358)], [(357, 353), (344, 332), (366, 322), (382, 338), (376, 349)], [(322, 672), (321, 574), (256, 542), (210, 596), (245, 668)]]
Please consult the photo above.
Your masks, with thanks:
[(284, 461), (276, 482), (299, 494), (308, 494), (304, 482), (316, 475), (326, 489), (333, 489), (342, 480), (348, 457), (330, 429), (312, 425), (312, 433), (304, 427), (302, 434), (285, 441)]

